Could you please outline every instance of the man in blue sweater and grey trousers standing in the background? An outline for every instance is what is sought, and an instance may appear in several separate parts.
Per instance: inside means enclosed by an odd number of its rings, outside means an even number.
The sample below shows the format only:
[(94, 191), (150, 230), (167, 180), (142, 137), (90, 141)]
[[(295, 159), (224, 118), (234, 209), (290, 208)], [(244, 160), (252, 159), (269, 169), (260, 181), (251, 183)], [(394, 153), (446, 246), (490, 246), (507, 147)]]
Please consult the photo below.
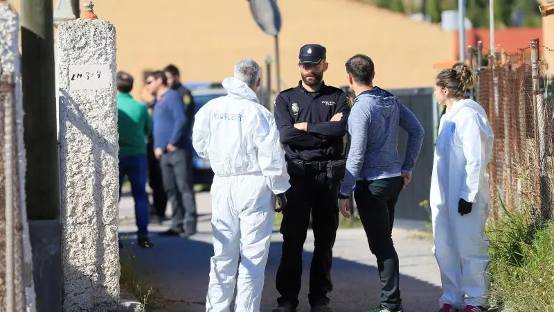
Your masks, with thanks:
[(193, 191), (193, 147), (182, 96), (170, 89), (163, 71), (154, 71), (146, 84), (156, 95), (152, 123), (154, 155), (160, 160), (163, 188), (173, 211), (172, 225), (164, 236), (187, 238), (196, 233), (197, 214)]

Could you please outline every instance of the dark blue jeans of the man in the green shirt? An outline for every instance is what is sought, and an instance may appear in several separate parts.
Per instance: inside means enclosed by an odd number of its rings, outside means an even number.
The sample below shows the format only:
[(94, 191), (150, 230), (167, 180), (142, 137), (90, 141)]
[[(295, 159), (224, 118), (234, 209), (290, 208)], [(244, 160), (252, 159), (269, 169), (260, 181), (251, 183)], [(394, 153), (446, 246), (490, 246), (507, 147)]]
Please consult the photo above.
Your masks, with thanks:
[(146, 180), (148, 177), (148, 159), (146, 155), (134, 155), (119, 159), (119, 197), (121, 197), (121, 184), (125, 175), (131, 183), (131, 193), (134, 199), (134, 217), (138, 234), (148, 235), (148, 194), (146, 193)]

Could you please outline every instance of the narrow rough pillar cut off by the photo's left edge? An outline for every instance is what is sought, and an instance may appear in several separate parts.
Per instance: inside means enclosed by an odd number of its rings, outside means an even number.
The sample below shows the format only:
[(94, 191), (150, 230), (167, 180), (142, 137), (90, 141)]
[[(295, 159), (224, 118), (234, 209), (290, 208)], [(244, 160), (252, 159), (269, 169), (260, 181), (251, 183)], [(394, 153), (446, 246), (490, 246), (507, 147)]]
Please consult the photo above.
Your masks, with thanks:
[(0, 0), (0, 311), (35, 311), (25, 206), (19, 17)]

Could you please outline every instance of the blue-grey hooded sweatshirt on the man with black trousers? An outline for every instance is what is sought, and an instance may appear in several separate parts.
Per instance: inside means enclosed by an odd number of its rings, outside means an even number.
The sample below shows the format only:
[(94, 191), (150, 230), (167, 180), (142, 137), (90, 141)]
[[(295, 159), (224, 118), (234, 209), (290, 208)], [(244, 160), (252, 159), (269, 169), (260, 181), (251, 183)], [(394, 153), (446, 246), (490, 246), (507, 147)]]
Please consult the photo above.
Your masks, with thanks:
[[(408, 132), (404, 164), (397, 152), (398, 128)], [(375, 87), (359, 94), (348, 117), (352, 136), (341, 193), (349, 195), (357, 180), (377, 180), (411, 173), (424, 130), (415, 115), (393, 94)]]

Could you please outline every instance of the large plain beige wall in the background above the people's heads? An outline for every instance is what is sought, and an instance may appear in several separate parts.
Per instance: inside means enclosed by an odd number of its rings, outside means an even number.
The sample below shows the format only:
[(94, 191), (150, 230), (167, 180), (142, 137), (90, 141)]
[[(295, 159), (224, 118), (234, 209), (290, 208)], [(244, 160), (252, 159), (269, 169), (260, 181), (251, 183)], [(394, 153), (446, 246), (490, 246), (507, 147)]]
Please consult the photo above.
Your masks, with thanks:
[[(138, 80), (143, 70), (173, 62), (183, 81), (217, 81), (232, 75), (232, 65), (241, 58), (263, 64), (265, 56), (274, 53), (273, 38), (258, 28), (245, 0), (94, 3), (98, 17), (116, 26), (118, 69)], [(298, 82), (298, 49), (306, 43), (327, 47), (330, 66), (325, 82), (330, 85), (346, 84), (343, 62), (355, 53), (373, 58), (375, 83), (387, 88), (430, 86), (436, 75), (432, 64), (454, 58), (453, 33), (440, 31), (438, 25), (352, 0), (278, 3), (283, 17), (282, 89)], [(136, 85), (135, 96), (140, 87)]]

